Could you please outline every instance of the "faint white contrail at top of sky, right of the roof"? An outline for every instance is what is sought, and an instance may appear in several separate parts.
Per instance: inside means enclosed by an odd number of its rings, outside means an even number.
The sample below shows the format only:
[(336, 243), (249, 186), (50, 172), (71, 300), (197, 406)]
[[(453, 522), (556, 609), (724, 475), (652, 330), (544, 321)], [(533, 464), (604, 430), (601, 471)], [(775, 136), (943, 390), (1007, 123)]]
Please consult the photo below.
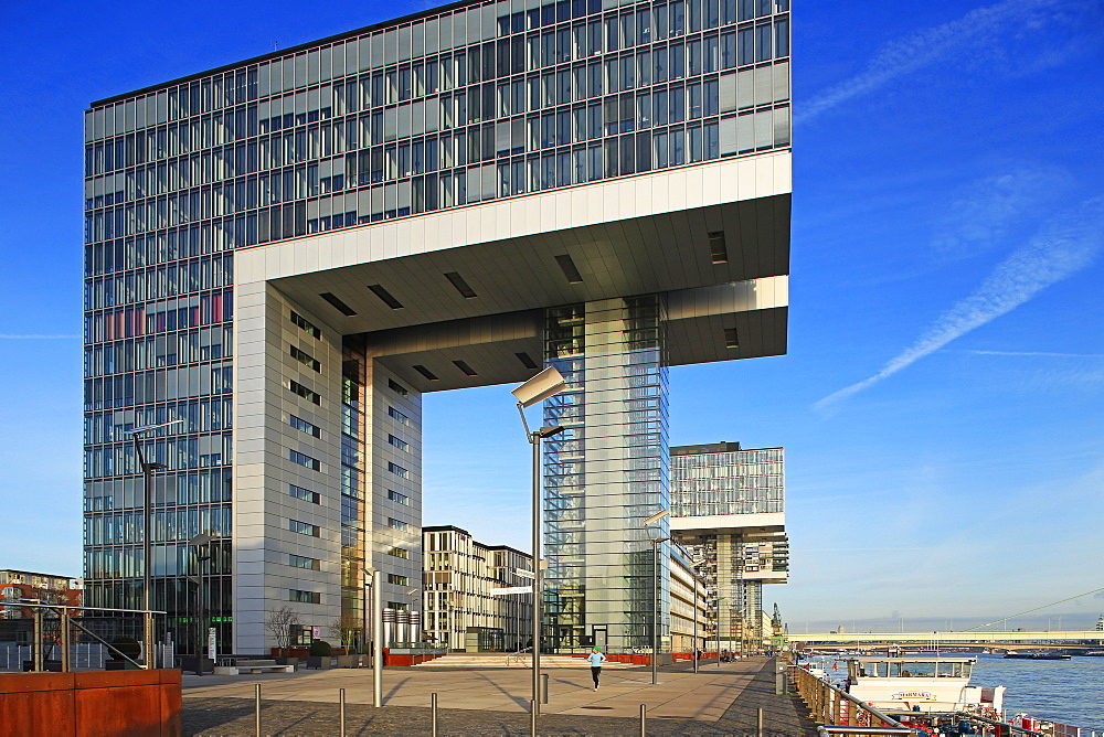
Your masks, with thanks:
[(1005, 0), (972, 10), (958, 20), (894, 41), (870, 60), (863, 72), (806, 103), (802, 111), (794, 116), (794, 122), (810, 120), (840, 103), (938, 61), (991, 29), (1052, 4), (1055, 4), (1054, 0)]

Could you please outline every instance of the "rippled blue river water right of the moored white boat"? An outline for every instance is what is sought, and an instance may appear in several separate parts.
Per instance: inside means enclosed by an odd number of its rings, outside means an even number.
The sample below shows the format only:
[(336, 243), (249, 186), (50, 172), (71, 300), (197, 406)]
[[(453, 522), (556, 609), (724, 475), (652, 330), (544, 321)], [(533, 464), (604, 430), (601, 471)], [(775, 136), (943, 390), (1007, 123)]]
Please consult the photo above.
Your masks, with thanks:
[(1006, 686), (1005, 713), (1104, 731), (1104, 658), (1005, 660), (978, 655), (974, 686)]

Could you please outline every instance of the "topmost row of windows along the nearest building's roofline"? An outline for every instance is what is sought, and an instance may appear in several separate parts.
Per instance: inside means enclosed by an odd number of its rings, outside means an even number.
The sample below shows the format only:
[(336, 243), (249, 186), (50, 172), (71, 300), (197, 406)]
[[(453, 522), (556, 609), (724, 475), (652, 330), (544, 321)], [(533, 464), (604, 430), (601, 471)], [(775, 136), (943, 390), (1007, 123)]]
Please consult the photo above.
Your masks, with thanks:
[[(540, 53), (534, 50), (527, 54), (530, 63), (555, 62), (566, 55), (582, 57), (604, 50), (617, 51), (637, 43), (681, 35), (687, 31), (693, 33), (719, 25), (746, 23), (764, 19), (772, 12), (788, 11), (786, 0), (778, 0), (774, 7), (769, 0), (690, 0), (686, 3), (657, 3), (654, 9), (647, 3), (619, 11), (607, 9), (613, 12), (603, 18), (599, 15), (603, 9), (594, 0), (590, 2), (591, 7), (583, 0), (559, 4), (574, 7), (566, 12), (532, 9), (512, 14), (508, 9), (502, 13), (496, 12), (492, 6), (461, 9), (420, 20), (412, 25), (392, 26), (371, 36), (319, 46), (225, 75), (213, 75), (93, 110), (86, 119), (85, 136), (89, 140), (98, 139), (105, 135), (233, 107), (347, 74), (382, 70), (420, 56), (434, 56), (469, 43), (478, 45), (461, 49), (456, 56), (463, 56), (466, 51), (476, 61), (461, 65), (461, 68), (470, 70), (477, 79), (492, 76), (501, 74), (498, 67), (513, 68), (520, 64), (522, 52), (514, 51), (513, 46), (523, 38), (516, 34), (527, 32), (533, 42), (539, 41), (540, 49)], [(543, 33), (538, 34), (538, 29), (544, 29)], [(507, 38), (510, 35), (513, 38)], [(564, 35), (570, 41), (564, 40)], [(496, 39), (498, 41), (493, 41)], [(543, 53), (545, 46), (552, 47), (548, 54)], [(499, 63), (500, 58), (505, 63)], [(397, 79), (395, 87), (399, 87)]]

